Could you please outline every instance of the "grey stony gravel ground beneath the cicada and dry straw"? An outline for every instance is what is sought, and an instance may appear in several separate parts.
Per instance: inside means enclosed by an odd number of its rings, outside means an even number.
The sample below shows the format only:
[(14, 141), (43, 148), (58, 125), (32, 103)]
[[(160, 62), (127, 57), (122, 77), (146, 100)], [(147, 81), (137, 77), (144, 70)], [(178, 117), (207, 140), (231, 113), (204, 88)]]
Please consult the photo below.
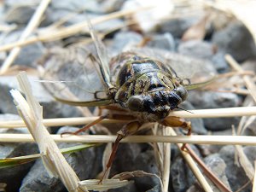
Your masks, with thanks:
[[(56, 22), (71, 16), (63, 26), (91, 19), (97, 16), (112, 13), (121, 9), (136, 8), (132, 3), (137, 1), (56, 1), (49, 4), (49, 8), (44, 14), (44, 18), (38, 26), (37, 32), (33, 35), (40, 35), (48, 26), (54, 26)], [(140, 2), (140, 1), (138, 1)], [(136, 4), (136, 3), (135, 3)], [(0, 44), (10, 44), (15, 42), (24, 27), (31, 19), (38, 1), (12, 1), (2, 2), (0, 10), (0, 26), (5, 26), (0, 33)], [(179, 12), (175, 9), (176, 17), (171, 17), (174, 7), (171, 4), (163, 10), (167, 19), (151, 21), (147, 15), (145, 25), (140, 22), (145, 19), (143, 15), (131, 18), (117, 18), (108, 20), (98, 26), (94, 26), (96, 31), (102, 33), (110, 32), (105, 38), (109, 55), (117, 55), (124, 50), (140, 47), (140, 49), (157, 49), (160, 52), (183, 55), (181, 63), (185, 58), (189, 62), (196, 63), (201, 60), (210, 66), (214, 73), (230, 72), (230, 67), (224, 59), (225, 54), (232, 55), (236, 61), (241, 63), (241, 67), (246, 70), (256, 71), (256, 48), (253, 37), (247, 28), (236, 20), (236, 18), (225, 15), (225, 13), (211, 11), (191, 11)], [(86, 10), (86, 14), (85, 11)], [(180, 9), (182, 10), (182, 9)], [(189, 7), (188, 7), (189, 10)], [(159, 12), (153, 12), (157, 15)], [(149, 14), (150, 15), (150, 14)], [(207, 15), (207, 16), (206, 16)], [(209, 16), (210, 15), (210, 16)], [(147, 18), (148, 17), (148, 18)], [(148, 19), (148, 20), (147, 20)], [(128, 21), (137, 20), (137, 26), (125, 26)], [(204, 23), (203, 20), (206, 20)], [(148, 22), (148, 23), (147, 23)], [(147, 25), (146, 25), (147, 24)], [(149, 25), (150, 24), (150, 25)], [(124, 26), (119, 30), (113, 30), (119, 26)], [(196, 35), (188, 32), (192, 29)], [(60, 27), (61, 30), (61, 27)], [(50, 31), (48, 31), (50, 32)], [(190, 31), (191, 32), (191, 31)], [(187, 34), (187, 35), (185, 35)], [(15, 59), (13, 66), (23, 67), (28, 71), (32, 82), (32, 90), (38, 101), (44, 107), (44, 118), (57, 117), (77, 117), (82, 114), (77, 108), (55, 102), (38, 82), (38, 75), (29, 73), (29, 69), (37, 69), (40, 61), (52, 61), (55, 59), (55, 50), (65, 51), (73, 44), (84, 41), (88, 34), (80, 32), (72, 37), (61, 38), (50, 42), (36, 42), (23, 47), (19, 56)], [(85, 46), (85, 45), (84, 45)], [(87, 45), (86, 45), (87, 46)], [(65, 52), (64, 52), (65, 53)], [(0, 52), (0, 62), (7, 58), (9, 51)], [(51, 55), (48, 60), (42, 60), (45, 55)], [(68, 57), (68, 55), (66, 55)], [(55, 61), (55, 60), (54, 60)], [(56, 61), (58, 63), (58, 61)], [(42, 64), (42, 63), (40, 63)], [(44, 64), (44, 63), (43, 63)], [(189, 70), (189, 69), (184, 69)], [(11, 70), (10, 70), (11, 71)], [(0, 120), (20, 119), (17, 115), (13, 99), (9, 90), (17, 88), (14, 73), (0, 76)], [(32, 70), (31, 70), (32, 71)], [(238, 80), (237, 80), (238, 81)], [(236, 79), (235, 79), (236, 82)], [(237, 82), (238, 84), (239, 82)], [(231, 83), (230, 83), (231, 84)], [(236, 84), (236, 83), (234, 83)], [(220, 84), (221, 85), (221, 84)], [(241, 86), (241, 84), (240, 84)], [(226, 87), (224, 87), (225, 89)], [(202, 108), (231, 108), (247, 105), (250, 98), (234, 92), (220, 92), (213, 90), (191, 90), (189, 98), (181, 106), (185, 109)], [(92, 110), (92, 109), (91, 109)], [(231, 135), (231, 127), (237, 127), (240, 118), (219, 118), (219, 119), (191, 119), (194, 128), (193, 134), (207, 134), (209, 131), (213, 135)], [(246, 135), (255, 136), (255, 123), (249, 125)], [(74, 131), (77, 127), (52, 128), (51, 131), (61, 134), (64, 131)], [(26, 129), (1, 129), (1, 133), (28, 133)], [(93, 134), (90, 132), (90, 134)], [(72, 146), (70, 143), (61, 143), (60, 147)], [(245, 188), (241, 191), (251, 191), (252, 184), (246, 172), (241, 166), (237, 166), (235, 160), (236, 150), (233, 146), (193, 146), (201, 159), (207, 166), (216, 173), (218, 177), (232, 190)], [(256, 160), (255, 147), (243, 147), (248, 160)], [(14, 157), (26, 154), (35, 154), (38, 151), (37, 145), (32, 143), (1, 143), (0, 157)], [(66, 154), (67, 161), (71, 164), (79, 178), (95, 178), (102, 172), (102, 154), (104, 146), (89, 148), (74, 154)], [(118, 154), (114, 160), (111, 175), (119, 172), (143, 170), (144, 172), (160, 174), (158, 164), (154, 159), (154, 150), (149, 144), (124, 143), (120, 144)], [(135, 177), (134, 183), (121, 189), (111, 189), (109, 191), (160, 191), (160, 182), (156, 177)], [(63, 184), (56, 178), (50, 178), (41, 160), (31, 162), (14, 168), (0, 170), (0, 183), (7, 183), (6, 191), (66, 191)], [(170, 173), (170, 192), (199, 191), (201, 188), (196, 182), (193, 173), (189, 170), (183, 157), (178, 152), (177, 147), (172, 145), (172, 163)], [(4, 190), (3, 190), (4, 191)], [(218, 191), (214, 188), (214, 191)]]

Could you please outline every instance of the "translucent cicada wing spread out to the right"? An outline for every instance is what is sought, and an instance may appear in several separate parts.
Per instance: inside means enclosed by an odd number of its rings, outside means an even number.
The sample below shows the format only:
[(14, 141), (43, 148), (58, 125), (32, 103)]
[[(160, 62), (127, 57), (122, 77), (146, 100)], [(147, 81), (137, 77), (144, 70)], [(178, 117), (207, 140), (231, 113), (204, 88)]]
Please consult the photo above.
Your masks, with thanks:
[(195, 59), (161, 49), (134, 49), (137, 53), (155, 58), (169, 68), (172, 75), (181, 79), (188, 90), (211, 83), (217, 77), (217, 71), (210, 61)]

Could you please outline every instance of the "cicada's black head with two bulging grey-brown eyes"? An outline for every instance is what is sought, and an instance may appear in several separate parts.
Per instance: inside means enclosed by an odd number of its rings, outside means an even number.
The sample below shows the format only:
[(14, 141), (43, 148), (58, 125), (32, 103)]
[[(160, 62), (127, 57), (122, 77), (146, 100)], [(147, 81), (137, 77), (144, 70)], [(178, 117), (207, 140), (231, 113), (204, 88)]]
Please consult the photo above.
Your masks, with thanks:
[(179, 85), (173, 90), (155, 90), (148, 94), (131, 96), (126, 106), (131, 111), (143, 113), (143, 119), (157, 121), (166, 118), (187, 96), (187, 90)]

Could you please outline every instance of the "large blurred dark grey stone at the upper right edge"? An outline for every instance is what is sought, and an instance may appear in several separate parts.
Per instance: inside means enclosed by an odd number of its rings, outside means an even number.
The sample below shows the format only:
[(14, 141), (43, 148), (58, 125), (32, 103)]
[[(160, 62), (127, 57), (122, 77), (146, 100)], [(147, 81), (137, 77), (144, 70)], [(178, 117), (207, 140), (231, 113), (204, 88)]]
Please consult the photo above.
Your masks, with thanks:
[(240, 21), (230, 22), (224, 29), (215, 32), (212, 43), (222, 52), (232, 55), (238, 62), (256, 55), (253, 36)]

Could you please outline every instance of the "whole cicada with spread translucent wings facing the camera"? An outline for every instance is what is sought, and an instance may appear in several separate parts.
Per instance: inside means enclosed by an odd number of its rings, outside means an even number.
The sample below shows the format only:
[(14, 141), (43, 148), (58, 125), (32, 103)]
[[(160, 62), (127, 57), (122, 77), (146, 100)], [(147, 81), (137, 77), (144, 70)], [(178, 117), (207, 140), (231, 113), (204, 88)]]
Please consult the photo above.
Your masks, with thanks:
[(105, 118), (130, 120), (117, 133), (107, 169), (112, 165), (120, 140), (137, 132), (144, 123), (183, 127), (189, 135), (190, 124), (168, 114), (186, 100), (188, 90), (211, 82), (209, 72), (214, 73), (214, 69), (207, 68), (203, 61), (150, 49), (134, 49), (108, 60), (102, 41), (89, 28), (96, 55), (90, 48), (68, 49), (64, 53), (66, 61), (56, 59), (49, 63), (44, 79), (57, 80), (45, 86), (60, 102), (109, 109), (108, 115), (102, 115), (96, 122)]

